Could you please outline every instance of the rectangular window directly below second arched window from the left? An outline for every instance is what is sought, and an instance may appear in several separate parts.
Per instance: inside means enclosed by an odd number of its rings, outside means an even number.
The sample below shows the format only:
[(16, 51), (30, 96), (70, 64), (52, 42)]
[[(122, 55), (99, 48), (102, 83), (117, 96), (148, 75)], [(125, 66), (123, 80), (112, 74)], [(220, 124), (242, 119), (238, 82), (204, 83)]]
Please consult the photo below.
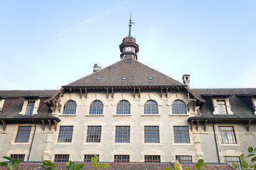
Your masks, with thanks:
[(88, 126), (86, 142), (100, 142), (101, 126)]

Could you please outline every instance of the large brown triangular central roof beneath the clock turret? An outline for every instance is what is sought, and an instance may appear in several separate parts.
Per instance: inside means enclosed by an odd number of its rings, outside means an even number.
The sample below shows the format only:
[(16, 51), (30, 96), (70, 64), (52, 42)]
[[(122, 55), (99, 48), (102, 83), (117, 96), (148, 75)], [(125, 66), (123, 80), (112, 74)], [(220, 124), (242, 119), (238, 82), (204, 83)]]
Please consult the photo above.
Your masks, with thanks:
[[(97, 80), (97, 78), (100, 78)], [(122, 78), (126, 77), (126, 80)], [(152, 77), (153, 79), (149, 79)], [(161, 72), (132, 59), (124, 58), (63, 87), (74, 86), (185, 86)]]

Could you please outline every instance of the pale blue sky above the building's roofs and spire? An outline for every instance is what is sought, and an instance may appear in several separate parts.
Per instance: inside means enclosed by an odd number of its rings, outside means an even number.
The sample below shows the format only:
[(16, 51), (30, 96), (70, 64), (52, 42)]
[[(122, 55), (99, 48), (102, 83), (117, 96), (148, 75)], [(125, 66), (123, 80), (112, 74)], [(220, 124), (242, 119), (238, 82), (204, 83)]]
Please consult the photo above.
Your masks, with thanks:
[(191, 88), (256, 87), (255, 0), (0, 0), (0, 90), (60, 89), (119, 61), (131, 12), (139, 62)]

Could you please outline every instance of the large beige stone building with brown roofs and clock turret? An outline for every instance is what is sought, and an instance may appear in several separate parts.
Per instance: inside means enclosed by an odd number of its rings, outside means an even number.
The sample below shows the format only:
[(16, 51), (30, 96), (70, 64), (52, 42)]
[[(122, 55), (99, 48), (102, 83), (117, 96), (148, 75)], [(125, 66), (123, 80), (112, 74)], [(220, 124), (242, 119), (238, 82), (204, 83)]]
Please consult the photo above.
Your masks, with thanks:
[(135, 38), (120, 60), (59, 90), (0, 91), (0, 155), (36, 162), (239, 162), (256, 139), (256, 89), (190, 89), (138, 62)]

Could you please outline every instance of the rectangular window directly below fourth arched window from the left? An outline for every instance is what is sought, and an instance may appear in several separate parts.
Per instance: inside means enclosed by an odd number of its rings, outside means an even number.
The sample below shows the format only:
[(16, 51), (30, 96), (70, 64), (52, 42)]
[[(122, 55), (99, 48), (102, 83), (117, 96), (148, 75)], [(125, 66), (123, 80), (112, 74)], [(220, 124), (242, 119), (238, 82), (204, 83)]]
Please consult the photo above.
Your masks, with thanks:
[(159, 143), (159, 126), (145, 126), (144, 140), (145, 143)]

